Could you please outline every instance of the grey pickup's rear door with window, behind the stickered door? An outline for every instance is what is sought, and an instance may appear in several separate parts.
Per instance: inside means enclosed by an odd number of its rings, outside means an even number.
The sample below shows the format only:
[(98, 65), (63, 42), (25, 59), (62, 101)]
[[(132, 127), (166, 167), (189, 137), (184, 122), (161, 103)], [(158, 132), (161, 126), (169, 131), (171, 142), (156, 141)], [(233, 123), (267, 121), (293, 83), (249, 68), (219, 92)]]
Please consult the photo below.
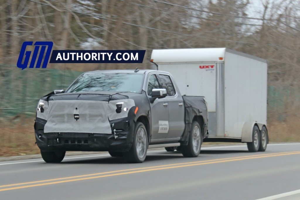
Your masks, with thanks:
[(178, 141), (184, 131), (183, 98), (176, 91), (170, 76), (158, 74), (157, 77), (161, 87), (167, 90), (167, 97), (165, 97), (169, 107), (169, 132), (167, 138), (174, 138), (174, 141)]

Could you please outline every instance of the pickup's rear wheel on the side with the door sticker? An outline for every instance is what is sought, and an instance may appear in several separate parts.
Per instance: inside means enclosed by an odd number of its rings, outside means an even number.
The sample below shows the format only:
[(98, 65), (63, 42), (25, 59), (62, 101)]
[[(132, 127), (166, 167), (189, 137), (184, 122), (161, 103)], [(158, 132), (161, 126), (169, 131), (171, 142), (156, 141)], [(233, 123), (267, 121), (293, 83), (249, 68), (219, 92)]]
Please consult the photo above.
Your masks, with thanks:
[(198, 122), (194, 121), (192, 123), (192, 128), (189, 135), (189, 140), (187, 145), (180, 146), (181, 152), (184, 157), (197, 157), (199, 156), (201, 150), (203, 136), (201, 132), (201, 127)]

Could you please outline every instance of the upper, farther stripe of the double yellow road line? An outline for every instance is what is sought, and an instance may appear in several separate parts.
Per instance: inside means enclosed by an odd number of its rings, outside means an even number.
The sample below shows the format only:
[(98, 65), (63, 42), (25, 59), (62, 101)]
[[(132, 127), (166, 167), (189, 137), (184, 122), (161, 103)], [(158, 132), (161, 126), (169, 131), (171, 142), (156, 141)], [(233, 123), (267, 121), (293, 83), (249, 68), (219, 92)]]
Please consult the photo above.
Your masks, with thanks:
[(141, 169), (167, 167), (167, 166), (173, 166), (173, 165), (186, 165), (186, 164), (211, 162), (211, 161), (218, 161), (218, 160), (258, 157), (258, 156), (265, 156), (265, 155), (279, 155), (279, 154), (283, 154), (283, 153), (298, 153), (298, 152), (300, 153), (300, 151), (289, 151), (289, 152), (281, 152), (281, 153), (267, 153), (267, 154), (260, 154), (260, 155), (256, 154), (256, 155), (251, 155), (251, 156), (238, 156), (238, 157), (220, 158), (220, 159), (212, 159), (212, 160), (202, 160), (202, 161), (194, 161), (194, 162), (182, 162), (182, 163), (175, 163), (175, 164), (168, 164), (168, 165), (157, 165), (157, 166), (142, 167), (142, 168), (122, 169), (122, 170), (115, 170), (115, 171), (99, 172), (99, 173), (95, 173), (95, 174), (84, 174), (84, 175), (78, 175), (78, 176), (70, 176), (70, 177), (54, 178), (54, 179), (47, 179), (47, 180), (31, 181), (31, 182), (25, 182), (25, 183), (14, 183), (14, 184), (9, 184), (9, 185), (1, 185), (0, 188), (1, 187), (17, 186), (17, 185), (26, 185), (26, 184), (32, 184), (32, 183), (43, 183), (43, 182), (49, 182), (49, 181), (55, 181), (55, 180), (64, 180), (64, 179), (96, 176), (96, 175), (101, 175), (101, 174), (111, 174), (111, 173), (117, 173), (117, 172), (123, 172), (123, 171), (134, 171), (134, 170), (141, 170)]

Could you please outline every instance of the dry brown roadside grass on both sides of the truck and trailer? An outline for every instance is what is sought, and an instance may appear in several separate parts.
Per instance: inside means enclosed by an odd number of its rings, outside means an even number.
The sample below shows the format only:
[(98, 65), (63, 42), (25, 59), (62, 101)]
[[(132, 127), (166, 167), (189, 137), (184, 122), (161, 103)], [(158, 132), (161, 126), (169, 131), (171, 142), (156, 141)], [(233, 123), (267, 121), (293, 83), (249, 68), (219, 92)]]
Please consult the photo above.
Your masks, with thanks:
[[(39, 153), (35, 144), (34, 117), (20, 117), (13, 121), (0, 122), (0, 156), (16, 156)], [(295, 117), (285, 122), (268, 121), (270, 142), (300, 141), (300, 123)], [(216, 143), (210, 143), (216, 144)], [(217, 143), (223, 144), (223, 143)]]

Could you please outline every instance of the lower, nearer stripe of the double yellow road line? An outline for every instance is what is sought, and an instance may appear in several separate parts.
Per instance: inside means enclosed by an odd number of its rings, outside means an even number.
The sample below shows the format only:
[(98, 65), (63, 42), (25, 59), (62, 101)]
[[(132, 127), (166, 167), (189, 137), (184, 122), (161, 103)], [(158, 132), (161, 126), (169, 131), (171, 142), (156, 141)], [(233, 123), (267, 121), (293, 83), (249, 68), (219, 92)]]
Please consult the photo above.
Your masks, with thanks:
[(196, 165), (207, 165), (207, 164), (213, 164), (213, 163), (232, 162), (232, 161), (238, 161), (238, 160), (257, 159), (257, 158), (266, 158), (266, 157), (274, 157), (274, 156), (286, 156), (286, 155), (294, 155), (294, 154), (300, 154), (300, 152), (293, 152), (293, 153), (286, 152), (286, 153), (277, 153), (277, 154), (272, 154), (272, 155), (271, 154), (263, 154), (263, 155), (256, 156), (256, 157), (248, 156), (248, 157), (243, 157), (243, 158), (234, 158), (234, 159), (211, 161), (211, 162), (206, 161), (206, 162), (202, 162), (202, 163), (184, 164), (184, 165), (178, 165), (178, 166), (160, 167), (160, 168), (144, 169), (144, 170), (137, 170), (137, 171), (128, 171), (128, 172), (123, 172), (123, 173), (106, 174), (106, 175), (101, 175), (101, 176), (92, 176), (92, 177), (77, 178), (77, 179), (70, 179), (70, 180), (61, 180), (61, 181), (55, 181), (55, 182), (49, 182), (49, 183), (40, 183), (40, 184), (33, 184), (33, 185), (26, 185), (26, 186), (10, 187), (10, 188), (0, 189), (0, 192), (7, 191), (7, 190), (13, 190), (13, 189), (45, 186), (45, 185), (52, 185), (52, 184), (58, 184), (58, 183), (74, 182), (74, 181), (79, 181), (79, 180), (89, 180), (89, 179), (95, 179), (95, 178), (119, 176), (119, 175), (124, 175), (124, 174), (141, 173), (141, 172), (147, 172), (147, 171), (157, 171), (157, 170), (172, 169), (172, 168), (190, 167), (190, 166), (196, 166)]

